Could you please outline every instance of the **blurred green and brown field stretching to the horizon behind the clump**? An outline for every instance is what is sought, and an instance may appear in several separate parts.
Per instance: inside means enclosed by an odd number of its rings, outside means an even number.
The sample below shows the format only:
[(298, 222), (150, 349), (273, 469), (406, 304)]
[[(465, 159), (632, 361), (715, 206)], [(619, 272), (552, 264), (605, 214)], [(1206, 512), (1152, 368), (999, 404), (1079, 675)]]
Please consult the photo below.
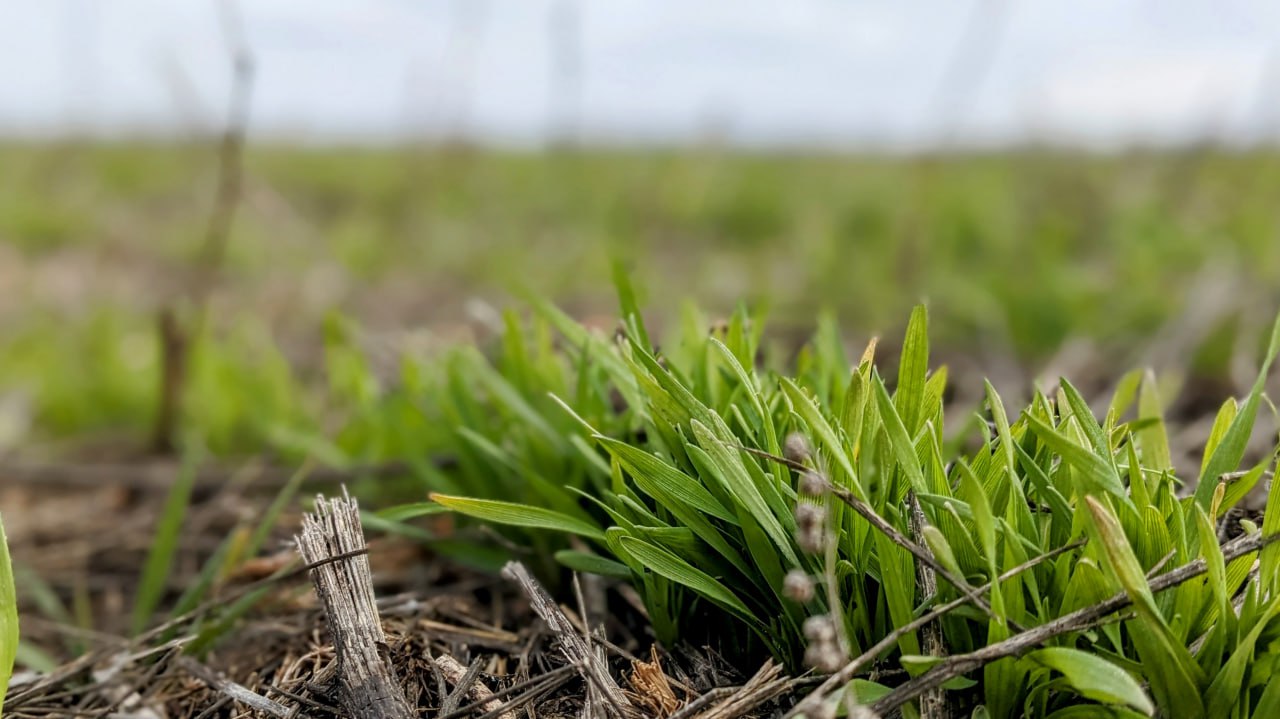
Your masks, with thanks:
[[(146, 427), (156, 313), (207, 271), (216, 151), (10, 143), (0, 157), (10, 412), (45, 439)], [(1085, 352), (1114, 374), (1225, 377), (1236, 329), (1249, 342), (1280, 302), (1277, 160), (255, 147), (210, 331), (306, 371), (333, 311), (428, 347), (474, 339), (530, 293), (608, 322), (621, 258), (659, 325), (687, 301), (745, 302), (795, 342), (820, 311), (850, 336), (895, 335), (924, 299), (934, 342), (986, 374), (1029, 381)]]

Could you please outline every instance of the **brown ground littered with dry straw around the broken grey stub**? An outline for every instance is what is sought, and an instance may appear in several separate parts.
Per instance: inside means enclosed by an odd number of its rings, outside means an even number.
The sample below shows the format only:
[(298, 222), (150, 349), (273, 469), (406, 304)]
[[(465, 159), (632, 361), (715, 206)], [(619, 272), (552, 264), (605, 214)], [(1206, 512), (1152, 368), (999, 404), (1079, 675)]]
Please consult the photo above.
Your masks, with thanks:
[[(195, 581), (223, 537), (253, 526), (265, 503), (244, 487), (244, 482), (230, 482), (220, 491), (197, 494), (170, 576), (168, 603)], [(270, 715), (228, 699), (219, 682), (232, 681), (298, 716), (338, 716), (334, 650), (305, 573), (264, 580), (296, 564), (288, 537), (298, 526), (297, 512), (282, 518), (261, 557), (223, 572), (212, 599), (177, 622), (173, 637), (152, 629), (134, 640), (123, 638), (163, 500), (156, 489), (120, 486), (0, 489), (14, 560), (37, 571), (67, 605), (73, 605), (79, 592), (93, 615), (93, 629), (76, 628), (47, 618), (31, 601), (22, 604), (23, 636), (60, 654), (65, 664), (47, 676), (19, 673), (5, 715)], [(433, 659), (444, 656), (454, 667), (475, 667), (477, 673), (468, 682), (495, 692), (498, 705), (525, 707), (512, 716), (581, 715), (588, 696), (584, 679), (515, 586), (460, 568), (399, 537), (375, 539), (369, 553), (387, 651), (413, 706), (436, 715), (442, 707), (458, 711), (476, 704), (466, 691), (457, 692), (444, 681)], [(261, 586), (269, 587), (266, 595), (207, 652), (191, 656), (179, 651), (201, 628), (216, 622), (223, 609)], [(659, 654), (628, 589), (608, 585), (604, 592), (603, 646), (611, 673), (636, 705), (645, 707), (643, 715), (669, 716), (710, 690), (736, 687), (749, 678), (710, 650), (681, 647), (678, 661)], [(579, 612), (563, 609), (581, 626)], [(76, 656), (76, 649), (84, 652)], [(654, 661), (659, 672), (654, 672)], [(655, 677), (667, 682), (667, 691), (653, 704)], [(723, 699), (707, 707), (735, 696), (722, 693)], [(460, 716), (483, 714), (477, 710)]]

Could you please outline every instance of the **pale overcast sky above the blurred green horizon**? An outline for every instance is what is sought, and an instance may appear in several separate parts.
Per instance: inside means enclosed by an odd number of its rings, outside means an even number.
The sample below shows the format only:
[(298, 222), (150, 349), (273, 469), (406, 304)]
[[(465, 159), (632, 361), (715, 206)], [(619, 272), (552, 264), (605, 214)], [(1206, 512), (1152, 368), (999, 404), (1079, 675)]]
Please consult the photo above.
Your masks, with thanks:
[(1280, 139), (1263, 0), (0, 0), (0, 134), (1097, 147)]

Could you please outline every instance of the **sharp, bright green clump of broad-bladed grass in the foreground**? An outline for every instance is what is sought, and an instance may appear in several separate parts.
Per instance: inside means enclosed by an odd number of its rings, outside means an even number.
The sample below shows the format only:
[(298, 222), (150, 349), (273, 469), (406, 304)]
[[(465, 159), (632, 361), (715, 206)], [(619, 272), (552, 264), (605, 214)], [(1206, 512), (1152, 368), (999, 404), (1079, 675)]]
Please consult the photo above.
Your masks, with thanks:
[[(562, 335), (562, 363), (579, 372), (552, 385), (562, 388), (550, 389), (558, 411), (530, 393), (549, 383), (524, 376), (524, 361), (490, 374), (474, 358), (480, 384), (497, 384), (454, 398), (468, 407), (453, 417), (468, 461), (522, 478), (515, 491), (532, 499), (477, 476), (468, 486), (479, 491), (435, 503), (535, 537), (579, 536), (586, 551), (554, 558), (632, 582), (668, 645), (716, 637), (794, 670), (829, 672), (888, 640), (879, 668), (920, 677), (945, 660), (925, 655), (920, 629), (899, 629), (975, 587), (986, 599), (938, 619), (948, 655), (1125, 592), (1132, 615), (1059, 635), (1025, 659), (984, 663), (977, 686), (961, 677), (947, 690), (991, 716), (1068, 715), (1091, 701), (1120, 715), (1266, 716), (1280, 701), (1277, 548), (1251, 572), (1257, 551), (1226, 562), (1217, 541), (1225, 512), (1272, 462), (1219, 481), (1244, 461), (1280, 320), (1252, 391), (1219, 415), (1197, 491), (1180, 498), (1149, 377), (1117, 393), (1101, 420), (1066, 380), (1012, 416), (987, 385), (982, 445), (960, 454), (943, 440), (947, 374), (929, 370), (923, 307), (891, 390), (874, 344), (850, 363), (829, 331), (801, 352), (794, 376), (758, 367), (762, 330), (745, 312), (710, 333), (695, 319), (658, 353), (622, 294), (618, 343), (539, 307)], [(577, 473), (552, 472), (566, 463)], [(1280, 528), (1276, 505), (1272, 495), (1268, 536)], [(913, 513), (923, 522), (913, 526)], [(1207, 580), (1152, 591), (1148, 576), (1199, 560)], [(933, 595), (919, 589), (925, 568)], [(797, 591), (805, 581), (817, 591)], [(1134, 691), (1138, 682), (1147, 691)], [(865, 679), (854, 688), (864, 699), (892, 692)]]

